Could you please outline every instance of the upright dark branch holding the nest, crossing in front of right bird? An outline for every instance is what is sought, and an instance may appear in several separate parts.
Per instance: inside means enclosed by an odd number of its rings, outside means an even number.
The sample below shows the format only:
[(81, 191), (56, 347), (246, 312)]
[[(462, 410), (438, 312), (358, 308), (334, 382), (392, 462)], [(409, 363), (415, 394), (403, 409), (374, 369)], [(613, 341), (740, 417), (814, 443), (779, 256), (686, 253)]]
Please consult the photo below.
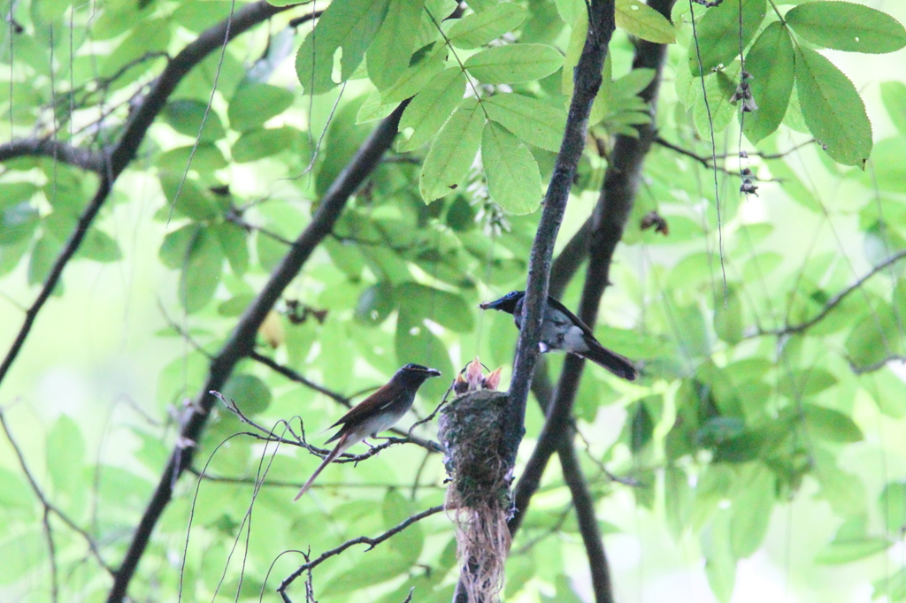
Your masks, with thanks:
[(592, 110), (594, 97), (601, 87), (601, 70), (607, 54), (607, 45), (613, 34), (613, 0), (592, 0), (587, 6), (588, 34), (573, 72), (573, 100), (570, 102), (564, 139), (554, 165), (554, 175), (547, 187), (544, 210), (535, 235), (535, 244), (532, 245), (528, 279), (525, 283), (524, 316), (516, 346), (509, 406), (506, 409), (504, 423), (505, 450), (501, 451), (504, 457), (511, 461), (515, 461), (516, 451), (525, 434), (525, 400), (535, 372), (538, 340), (541, 338), (542, 310), (547, 301), (554, 243), (563, 222), (576, 167), (585, 148), (588, 116)]

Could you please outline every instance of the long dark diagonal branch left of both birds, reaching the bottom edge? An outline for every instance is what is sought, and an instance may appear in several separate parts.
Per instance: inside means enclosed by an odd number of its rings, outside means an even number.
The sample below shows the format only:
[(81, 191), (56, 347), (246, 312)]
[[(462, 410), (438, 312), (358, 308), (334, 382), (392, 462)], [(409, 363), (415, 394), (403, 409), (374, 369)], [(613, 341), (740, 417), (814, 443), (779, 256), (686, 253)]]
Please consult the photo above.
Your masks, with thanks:
[(132, 542), (122, 566), (117, 571), (116, 580), (107, 598), (108, 603), (120, 603), (125, 598), (130, 579), (135, 573), (145, 547), (148, 546), (151, 531), (167, 507), (179, 475), (192, 462), (198, 437), (204, 429), (211, 407), (217, 400), (209, 392), (222, 389), (226, 379), (236, 368), (236, 363), (252, 352), (255, 345), (255, 334), (265, 320), (267, 312), (274, 307), (286, 286), (302, 269), (314, 248), (323, 241), (325, 236), (330, 235), (333, 225), (346, 206), (346, 201), (361, 186), (371, 171), (380, 164), (381, 156), (390, 148), (390, 143), (396, 137), (400, 116), (406, 108), (406, 104), (405, 102), (400, 104), (400, 107), (381, 121), (381, 125), (374, 129), (368, 139), (361, 144), (355, 157), (352, 158), (349, 165), (343, 168), (317, 206), (312, 216), (312, 222), (305, 227), (303, 233), (289, 248), (283, 261), (271, 273), (264, 288), (255, 297), (255, 301), (249, 304), (246, 312), (236, 324), (236, 329), (226, 340), (224, 347), (211, 360), (207, 382), (191, 406), (193, 408), (191, 415), (188, 416), (179, 431), (178, 442), (188, 442), (190, 445), (188, 447), (177, 445), (170, 455), (167, 468), (160, 476), (158, 487), (151, 496), (139, 527), (132, 536)]

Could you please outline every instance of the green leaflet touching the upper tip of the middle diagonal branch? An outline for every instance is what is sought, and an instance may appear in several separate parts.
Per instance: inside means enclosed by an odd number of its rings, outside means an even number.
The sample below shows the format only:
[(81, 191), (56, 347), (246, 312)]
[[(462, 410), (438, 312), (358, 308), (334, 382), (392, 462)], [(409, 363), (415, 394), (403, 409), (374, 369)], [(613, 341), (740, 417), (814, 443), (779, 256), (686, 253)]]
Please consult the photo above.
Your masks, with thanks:
[(400, 152), (419, 148), (438, 133), (466, 91), (466, 74), (457, 67), (440, 72), (420, 91), (400, 118), (400, 131), (411, 128), (409, 140), (400, 141)]

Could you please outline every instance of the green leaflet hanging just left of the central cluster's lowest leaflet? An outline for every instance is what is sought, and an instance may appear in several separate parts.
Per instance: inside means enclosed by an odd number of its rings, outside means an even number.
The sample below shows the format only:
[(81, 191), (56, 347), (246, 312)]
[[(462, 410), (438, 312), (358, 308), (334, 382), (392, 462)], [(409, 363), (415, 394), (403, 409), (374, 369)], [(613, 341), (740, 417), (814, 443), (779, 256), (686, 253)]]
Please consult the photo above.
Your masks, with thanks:
[(484, 121), (477, 99), (466, 99), (440, 129), (419, 175), (419, 191), (426, 203), (462, 184), (481, 144)]

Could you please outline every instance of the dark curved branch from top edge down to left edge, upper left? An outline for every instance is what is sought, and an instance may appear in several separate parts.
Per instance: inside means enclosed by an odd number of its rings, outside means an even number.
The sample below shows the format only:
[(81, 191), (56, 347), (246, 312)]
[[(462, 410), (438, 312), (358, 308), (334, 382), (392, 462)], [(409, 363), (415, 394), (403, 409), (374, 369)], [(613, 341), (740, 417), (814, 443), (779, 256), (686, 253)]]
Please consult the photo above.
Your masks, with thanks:
[(63, 245), (63, 251), (57, 256), (53, 263), (53, 268), (44, 281), (41, 292), (32, 303), (31, 307), (25, 311), (25, 320), (18, 334), (10, 346), (9, 351), (0, 364), (0, 384), (3, 383), (6, 373), (9, 372), (14, 360), (19, 355), (28, 333), (32, 330), (35, 318), (41, 311), (44, 302), (50, 297), (66, 264), (72, 259), (72, 256), (79, 250), (82, 239), (88, 233), (94, 218), (101, 211), (101, 206), (107, 201), (110, 195), (113, 183), (132, 158), (135, 157), (136, 150), (139, 148), (141, 141), (151, 125), (151, 122), (158, 116), (167, 103), (169, 95), (176, 90), (180, 81), (188, 74), (193, 67), (201, 62), (209, 53), (223, 46), (236, 35), (246, 32), (256, 24), (266, 21), (271, 16), (286, 10), (286, 6), (272, 6), (266, 2), (256, 2), (252, 5), (246, 5), (236, 11), (232, 19), (226, 19), (217, 25), (214, 25), (204, 33), (198, 36), (195, 42), (188, 44), (182, 52), (169, 62), (160, 77), (155, 81), (148, 95), (141, 101), (139, 108), (132, 114), (131, 119), (123, 129), (120, 140), (111, 149), (109, 155), (104, 158), (103, 166), (100, 170), (101, 183), (95, 192), (92, 201), (82, 211), (75, 229), (72, 231), (69, 240)]

